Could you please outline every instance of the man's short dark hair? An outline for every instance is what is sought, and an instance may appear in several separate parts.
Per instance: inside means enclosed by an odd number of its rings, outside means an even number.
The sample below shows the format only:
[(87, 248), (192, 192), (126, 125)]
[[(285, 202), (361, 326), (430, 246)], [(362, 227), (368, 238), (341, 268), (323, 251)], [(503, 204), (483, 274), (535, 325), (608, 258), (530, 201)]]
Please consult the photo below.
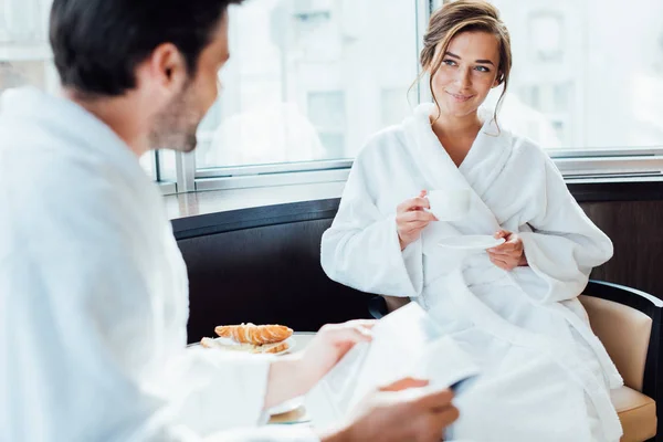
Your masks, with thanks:
[(54, 0), (50, 39), (63, 86), (90, 95), (136, 87), (135, 70), (172, 43), (189, 74), (228, 6), (243, 0)]

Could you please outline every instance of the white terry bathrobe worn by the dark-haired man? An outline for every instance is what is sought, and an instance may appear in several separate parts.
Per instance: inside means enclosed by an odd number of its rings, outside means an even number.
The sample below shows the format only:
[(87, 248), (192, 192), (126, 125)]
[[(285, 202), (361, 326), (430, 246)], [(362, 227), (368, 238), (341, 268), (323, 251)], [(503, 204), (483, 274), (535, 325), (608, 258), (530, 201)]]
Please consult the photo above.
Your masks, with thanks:
[[(6, 93), (1, 112), (0, 441), (198, 441), (255, 427), (271, 359), (186, 349), (185, 263), (134, 154), (35, 90)], [(264, 428), (219, 440), (317, 438)]]

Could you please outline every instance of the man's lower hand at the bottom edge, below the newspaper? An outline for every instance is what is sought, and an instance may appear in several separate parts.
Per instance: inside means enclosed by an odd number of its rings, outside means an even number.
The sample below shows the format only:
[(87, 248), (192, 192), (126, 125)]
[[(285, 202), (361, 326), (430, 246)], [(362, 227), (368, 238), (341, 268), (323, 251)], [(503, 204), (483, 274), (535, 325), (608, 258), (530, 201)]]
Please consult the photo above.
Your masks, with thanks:
[(323, 442), (440, 442), (459, 418), (450, 390), (424, 392), (427, 381), (402, 379), (381, 388), (360, 406), (344, 429), (323, 435)]

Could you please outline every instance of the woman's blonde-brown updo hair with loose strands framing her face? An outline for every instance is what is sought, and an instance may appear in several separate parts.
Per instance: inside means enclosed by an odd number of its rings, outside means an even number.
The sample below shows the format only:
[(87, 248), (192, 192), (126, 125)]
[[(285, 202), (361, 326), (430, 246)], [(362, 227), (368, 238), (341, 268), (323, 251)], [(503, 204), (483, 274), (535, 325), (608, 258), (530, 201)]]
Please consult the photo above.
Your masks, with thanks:
[[(499, 65), (497, 66), (497, 82), (504, 84), (504, 90), (493, 118), (497, 124), (497, 112), (502, 107), (504, 94), (508, 86), (508, 77), (512, 69), (511, 38), (504, 22), (499, 19), (499, 11), (493, 4), (484, 0), (456, 0), (438, 9), (429, 22), (429, 28), (423, 36), (423, 49), (419, 61), (423, 67), (422, 73), (414, 81), (417, 84), (425, 72), (430, 72), (429, 87), (433, 101), (438, 107), (440, 117), (440, 104), (433, 94), (433, 76), (442, 66), (444, 54), (449, 49), (451, 40), (462, 32), (487, 32), (497, 38), (499, 44)], [(435, 54), (438, 57), (435, 60)]]

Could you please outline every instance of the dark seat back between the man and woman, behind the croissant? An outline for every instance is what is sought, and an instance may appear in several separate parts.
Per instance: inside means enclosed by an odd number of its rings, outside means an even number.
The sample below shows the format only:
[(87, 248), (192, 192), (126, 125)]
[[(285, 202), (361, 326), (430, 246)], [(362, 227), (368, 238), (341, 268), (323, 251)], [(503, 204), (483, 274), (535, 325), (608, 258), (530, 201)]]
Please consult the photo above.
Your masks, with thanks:
[(332, 220), (231, 231), (179, 241), (190, 281), (189, 341), (215, 325), (280, 323), (298, 332), (368, 317), (367, 295), (330, 281), (319, 243)]

